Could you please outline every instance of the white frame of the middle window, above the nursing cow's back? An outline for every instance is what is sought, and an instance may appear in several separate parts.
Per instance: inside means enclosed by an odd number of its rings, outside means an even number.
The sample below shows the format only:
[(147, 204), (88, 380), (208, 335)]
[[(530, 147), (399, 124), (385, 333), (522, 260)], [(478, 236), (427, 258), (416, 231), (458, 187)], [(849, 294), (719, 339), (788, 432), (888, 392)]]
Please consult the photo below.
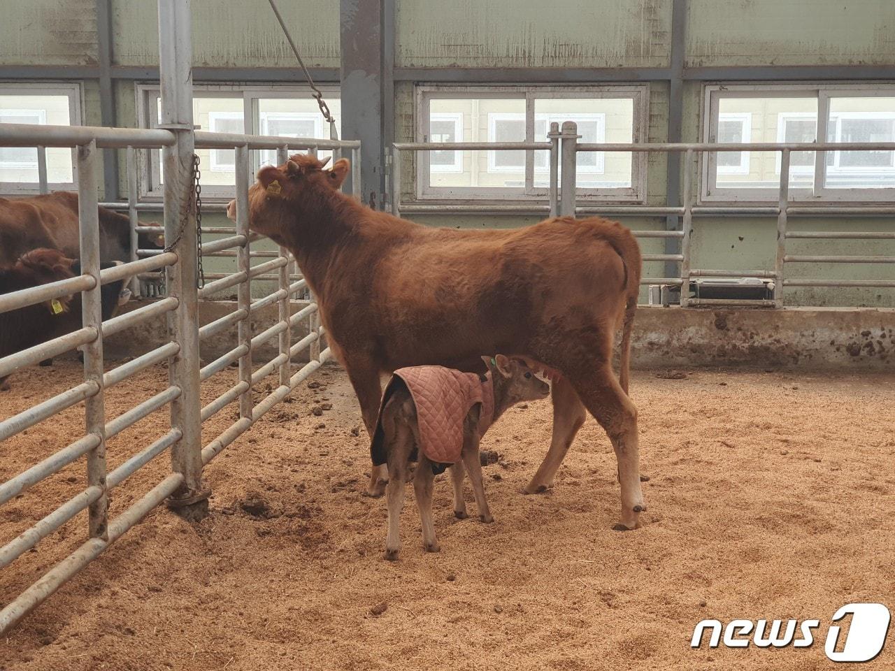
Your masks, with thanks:
[[(417, 83), (415, 91), (415, 140), (428, 141), (430, 100), (432, 98), (499, 98), (520, 99), (525, 105), (525, 141), (534, 141), (535, 113), (534, 103), (536, 99), (545, 98), (632, 98), (632, 141), (634, 143), (645, 142), (649, 131), (649, 83), (636, 84), (593, 84), (581, 86), (557, 86), (550, 84), (520, 84), (520, 85), (465, 85), (465, 84), (431, 84)], [(436, 113), (444, 114), (444, 113)], [(522, 113), (491, 113), (497, 115), (520, 115)], [(544, 114), (544, 113), (541, 113)], [(548, 113), (550, 114), (550, 113)], [(600, 115), (602, 113), (583, 113), (585, 115)], [(540, 115), (538, 115), (540, 116)], [(603, 122), (605, 138), (605, 121)], [(489, 122), (489, 138), (492, 137)], [(458, 152), (461, 155), (463, 152)], [(605, 157), (604, 152), (595, 152), (600, 157)], [(532, 200), (543, 199), (548, 195), (547, 187), (534, 185), (535, 172), (541, 173), (543, 168), (534, 166), (534, 152), (526, 152), (525, 157), (525, 186), (523, 188), (512, 187), (435, 187), (430, 185), (429, 152), (412, 152), (411, 160), (415, 162), (413, 197), (417, 201), (466, 201), (476, 202), (507, 202), (516, 201), (529, 203)], [(489, 152), (489, 169), (492, 152)], [(578, 188), (577, 197), (585, 202), (619, 203), (619, 204), (644, 204), (646, 202), (647, 184), (647, 155), (645, 152), (633, 152), (631, 155), (631, 186), (619, 188), (585, 189)], [(598, 166), (605, 172), (605, 160), (598, 158)], [(517, 169), (514, 169), (516, 171)], [(438, 173), (439, 171), (432, 171)], [(501, 172), (497, 170), (495, 172)], [(592, 166), (582, 167), (580, 173), (599, 174), (594, 172)]]

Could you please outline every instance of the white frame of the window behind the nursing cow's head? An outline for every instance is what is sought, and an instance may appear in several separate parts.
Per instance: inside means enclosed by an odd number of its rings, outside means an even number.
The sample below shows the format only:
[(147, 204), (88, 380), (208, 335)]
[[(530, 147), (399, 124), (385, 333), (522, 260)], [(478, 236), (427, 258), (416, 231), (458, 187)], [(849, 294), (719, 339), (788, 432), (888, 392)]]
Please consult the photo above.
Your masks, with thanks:
[[(341, 90), (338, 84), (318, 84), (318, 89), (323, 93), (324, 97), (332, 99), (341, 99)], [(142, 82), (137, 83), (134, 87), (134, 95), (137, 103), (137, 123), (141, 128), (157, 128), (158, 127), (158, 103), (155, 99), (160, 95), (160, 86), (158, 82)], [(193, 96), (195, 98), (242, 98), (243, 99), (243, 129), (245, 134), (261, 135), (261, 119), (260, 105), (261, 98), (310, 98), (311, 88), (307, 85), (298, 84), (239, 84), (239, 83), (197, 83), (193, 87)], [(233, 114), (233, 113), (209, 113), (209, 114)], [(276, 113), (291, 114), (291, 113)], [(305, 114), (305, 113), (296, 113)], [(309, 115), (311, 113), (308, 113)], [(313, 113), (320, 115), (319, 113)], [(320, 123), (323, 123), (323, 117), (320, 115)], [(322, 125), (326, 129), (326, 124)], [(200, 129), (205, 130), (205, 129)], [(226, 149), (225, 149), (226, 150)], [(164, 187), (161, 183), (161, 170), (158, 160), (158, 149), (140, 149), (138, 150), (139, 160), (138, 169), (140, 172), (140, 198), (141, 200), (157, 201), (163, 197)], [(215, 150), (212, 149), (211, 152)], [(250, 155), (250, 174), (249, 181), (258, 172), (260, 166), (264, 165), (265, 150), (252, 149)], [(213, 157), (213, 153), (209, 156)], [(209, 166), (211, 168), (211, 166)], [(212, 168), (213, 169), (213, 168)], [(235, 192), (234, 185), (212, 184), (202, 186), (202, 197), (209, 202), (225, 202), (233, 198)]]

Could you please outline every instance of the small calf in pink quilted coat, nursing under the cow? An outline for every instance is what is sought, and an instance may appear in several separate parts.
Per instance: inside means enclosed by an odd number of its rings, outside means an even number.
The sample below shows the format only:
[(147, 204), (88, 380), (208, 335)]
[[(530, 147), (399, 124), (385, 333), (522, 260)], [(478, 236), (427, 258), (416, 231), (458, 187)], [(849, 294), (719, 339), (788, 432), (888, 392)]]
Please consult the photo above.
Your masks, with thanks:
[[(522, 361), (484, 357), (488, 373), (477, 376), (440, 366), (398, 369), (386, 386), (371, 443), (373, 463), (388, 463), (386, 559), (401, 549), (399, 518), (404, 483), (415, 455), (413, 491), (422, 521), (422, 545), (438, 552), (432, 525), (432, 480), (447, 466), (454, 482), (454, 514), (464, 519), (464, 471), (473, 483), (482, 522), (494, 522), (482, 485), (479, 440), (508, 408), (550, 394), (550, 386)], [(464, 469), (465, 464), (465, 469)]]

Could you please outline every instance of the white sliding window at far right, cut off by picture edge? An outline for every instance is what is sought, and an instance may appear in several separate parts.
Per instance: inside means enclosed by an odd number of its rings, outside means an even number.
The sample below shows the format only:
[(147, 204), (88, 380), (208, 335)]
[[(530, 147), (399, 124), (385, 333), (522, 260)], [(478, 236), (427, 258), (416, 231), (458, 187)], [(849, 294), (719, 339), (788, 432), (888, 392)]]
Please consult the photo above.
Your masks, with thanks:
[[(708, 142), (893, 142), (895, 85), (729, 84), (705, 87)], [(746, 116), (751, 138), (742, 132)], [(742, 140), (737, 138), (742, 137)], [(703, 200), (776, 200), (780, 152), (703, 155)], [(895, 152), (886, 149), (793, 151), (789, 197), (802, 201), (891, 201)]]

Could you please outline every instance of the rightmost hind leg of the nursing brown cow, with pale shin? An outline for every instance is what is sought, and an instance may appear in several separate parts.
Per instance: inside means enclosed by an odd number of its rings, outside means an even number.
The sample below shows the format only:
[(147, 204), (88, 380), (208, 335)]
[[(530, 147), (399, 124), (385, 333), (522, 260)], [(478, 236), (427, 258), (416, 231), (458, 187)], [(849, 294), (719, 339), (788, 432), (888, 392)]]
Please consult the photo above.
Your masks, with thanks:
[(599, 365), (589, 374), (579, 370), (572, 380), (584, 406), (606, 430), (618, 461), (621, 485), (621, 517), (613, 527), (618, 531), (640, 526), (640, 514), (646, 510), (640, 488), (640, 455), (637, 436), (637, 408), (622, 391), (612, 367)]

